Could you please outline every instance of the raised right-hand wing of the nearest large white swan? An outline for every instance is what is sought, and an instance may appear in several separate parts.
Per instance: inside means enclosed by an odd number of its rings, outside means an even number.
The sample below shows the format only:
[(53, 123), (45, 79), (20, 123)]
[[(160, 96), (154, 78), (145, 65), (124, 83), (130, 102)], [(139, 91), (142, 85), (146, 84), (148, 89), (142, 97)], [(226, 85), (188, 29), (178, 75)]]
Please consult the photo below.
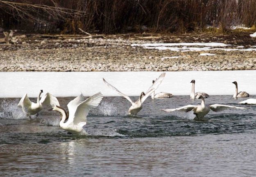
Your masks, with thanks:
[(88, 115), (90, 109), (97, 107), (100, 104), (102, 98), (103, 98), (103, 95), (101, 92), (99, 92), (89, 97), (84, 102), (80, 103), (77, 106), (74, 117), (72, 118), (73, 124), (75, 125), (80, 124), (84, 126), (86, 124), (86, 116)]

